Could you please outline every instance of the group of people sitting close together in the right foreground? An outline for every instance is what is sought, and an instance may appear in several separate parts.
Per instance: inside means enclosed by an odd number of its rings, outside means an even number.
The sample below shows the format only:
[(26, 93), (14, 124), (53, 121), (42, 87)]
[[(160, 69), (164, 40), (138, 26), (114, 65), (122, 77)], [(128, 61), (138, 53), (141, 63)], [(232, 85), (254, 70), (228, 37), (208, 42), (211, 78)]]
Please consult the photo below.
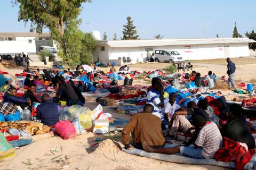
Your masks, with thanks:
[[(171, 93), (166, 102), (162, 80), (153, 78), (143, 113), (132, 116), (122, 131), (125, 149), (138, 148), (160, 154), (180, 153), (196, 159), (212, 159), (222, 147), (222, 138), (226, 137), (245, 143), (249, 150), (254, 150), (255, 140), (246, 117), (255, 117), (255, 111), (247, 111), (239, 104), (229, 104), (224, 96), (218, 98), (217, 103), (219, 116), (214, 114), (205, 99), (199, 100), (197, 104), (189, 101), (187, 107), (182, 107), (176, 103), (176, 94)], [(190, 135), (190, 140), (184, 145), (168, 147), (166, 143), (169, 140), (164, 137), (169, 136), (173, 140), (177, 132)]]

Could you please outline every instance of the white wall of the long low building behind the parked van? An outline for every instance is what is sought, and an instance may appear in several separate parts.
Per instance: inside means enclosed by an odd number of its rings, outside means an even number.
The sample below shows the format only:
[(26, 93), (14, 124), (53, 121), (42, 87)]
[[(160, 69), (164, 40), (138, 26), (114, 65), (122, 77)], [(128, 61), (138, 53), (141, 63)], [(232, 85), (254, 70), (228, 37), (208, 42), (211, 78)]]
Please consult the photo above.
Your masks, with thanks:
[[(105, 45), (107, 46), (107, 45)], [(100, 48), (97, 47), (93, 53), (94, 58), (97, 58), (97, 52)], [(105, 48), (106, 49), (106, 48)], [(235, 44), (205, 44), (205, 45), (178, 45), (178, 46), (154, 46), (154, 47), (122, 47), (111, 48), (108, 47), (108, 53), (99, 52), (99, 59), (101, 60), (117, 60), (118, 57), (130, 56), (131, 63), (145, 62), (148, 49), (170, 49), (176, 50), (183, 56), (184, 60), (207, 60), (214, 58), (226, 57), (244, 57), (250, 56), (248, 43)], [(151, 51), (151, 50), (150, 50)], [(95, 60), (95, 59), (94, 59)], [(98, 61), (98, 59), (96, 60)]]

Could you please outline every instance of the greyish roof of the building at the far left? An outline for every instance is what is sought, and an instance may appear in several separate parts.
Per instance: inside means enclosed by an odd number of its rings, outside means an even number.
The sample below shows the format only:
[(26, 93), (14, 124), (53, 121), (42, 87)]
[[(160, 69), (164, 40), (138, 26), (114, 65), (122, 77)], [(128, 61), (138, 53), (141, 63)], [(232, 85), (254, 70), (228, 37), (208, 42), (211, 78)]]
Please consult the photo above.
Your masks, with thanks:
[(50, 32), (0, 32), (0, 37), (51, 37)]

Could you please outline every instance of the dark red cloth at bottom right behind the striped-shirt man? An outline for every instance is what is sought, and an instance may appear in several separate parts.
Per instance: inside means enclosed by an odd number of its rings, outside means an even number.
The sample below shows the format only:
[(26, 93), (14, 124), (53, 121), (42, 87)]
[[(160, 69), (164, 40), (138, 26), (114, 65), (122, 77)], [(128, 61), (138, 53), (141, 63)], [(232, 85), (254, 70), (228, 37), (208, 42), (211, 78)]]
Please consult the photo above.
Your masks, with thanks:
[(222, 162), (235, 161), (236, 169), (242, 170), (247, 164), (253, 154), (254, 149), (250, 149), (246, 152), (246, 148), (239, 145), (239, 142), (223, 137), (223, 146), (214, 155), (214, 159)]

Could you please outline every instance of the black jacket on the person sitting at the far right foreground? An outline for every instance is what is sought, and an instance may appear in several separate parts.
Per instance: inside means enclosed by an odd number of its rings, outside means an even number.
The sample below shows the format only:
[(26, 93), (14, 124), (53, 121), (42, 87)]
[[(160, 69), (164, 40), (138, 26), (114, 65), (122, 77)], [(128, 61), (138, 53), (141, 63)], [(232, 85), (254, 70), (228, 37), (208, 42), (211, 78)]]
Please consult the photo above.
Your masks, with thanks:
[(243, 115), (228, 120), (221, 129), (221, 135), (234, 141), (246, 143), (248, 149), (255, 148), (255, 140)]

